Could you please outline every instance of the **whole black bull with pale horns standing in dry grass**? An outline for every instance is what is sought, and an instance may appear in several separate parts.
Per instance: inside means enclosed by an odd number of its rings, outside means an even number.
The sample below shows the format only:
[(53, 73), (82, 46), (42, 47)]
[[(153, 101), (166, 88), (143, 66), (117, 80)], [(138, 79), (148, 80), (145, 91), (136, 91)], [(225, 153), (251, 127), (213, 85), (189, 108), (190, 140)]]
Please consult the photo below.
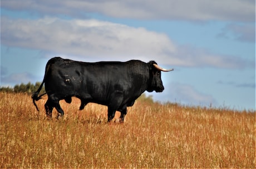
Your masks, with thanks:
[(58, 111), (58, 116), (63, 116), (59, 101), (65, 99), (67, 103), (71, 103), (71, 97), (75, 96), (81, 100), (80, 110), (88, 103), (106, 105), (107, 121), (110, 122), (115, 112), (120, 111), (120, 121), (123, 122), (127, 106), (134, 105), (145, 90), (164, 90), (161, 71), (171, 70), (160, 68), (154, 61), (86, 63), (56, 57), (46, 64), (42, 84), (32, 95), (32, 99), (38, 110), (35, 101), (41, 99), (42, 95), (38, 94), (45, 83), (48, 95), (45, 109), (48, 118), (52, 118), (53, 107)]

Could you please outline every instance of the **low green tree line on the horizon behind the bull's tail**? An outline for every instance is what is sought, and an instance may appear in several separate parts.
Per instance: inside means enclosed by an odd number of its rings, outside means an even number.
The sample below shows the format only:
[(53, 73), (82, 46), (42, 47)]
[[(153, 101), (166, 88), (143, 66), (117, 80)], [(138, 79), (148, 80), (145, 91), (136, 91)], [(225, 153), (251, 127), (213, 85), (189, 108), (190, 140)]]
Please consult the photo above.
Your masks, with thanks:
[[(39, 86), (41, 85), (41, 82), (36, 82), (35, 84), (32, 84), (30, 82), (28, 82), (27, 84), (21, 83), (21, 84), (17, 84), (15, 85), (13, 88), (12, 87), (1, 87), (0, 91), (1, 92), (7, 92), (7, 93), (28, 93), (28, 94), (32, 94), (35, 91), (37, 91), (37, 89), (39, 88)], [(42, 90), (40, 91), (40, 93), (45, 93), (45, 87), (43, 86)]]

